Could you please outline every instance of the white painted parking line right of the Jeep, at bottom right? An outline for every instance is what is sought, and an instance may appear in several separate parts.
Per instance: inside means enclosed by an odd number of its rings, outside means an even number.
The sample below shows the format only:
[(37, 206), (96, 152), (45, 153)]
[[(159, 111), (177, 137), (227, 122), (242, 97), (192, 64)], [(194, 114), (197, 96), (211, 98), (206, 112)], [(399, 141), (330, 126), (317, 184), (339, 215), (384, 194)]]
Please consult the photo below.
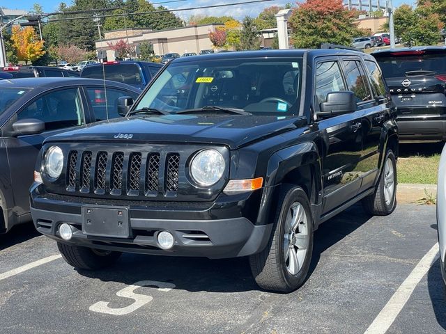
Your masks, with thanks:
[(397, 292), (394, 293), (390, 301), (385, 304), (383, 310), (379, 312), (378, 317), (371, 323), (364, 334), (384, 334), (392, 326), (393, 321), (397, 319), (399, 312), (406, 305), (410, 295), (413, 293), (415, 287), (420, 283), (420, 280), (426, 275), (431, 268), (433, 262), (438, 257), (438, 243), (433, 245), (431, 250), (424, 255), (418, 262), (417, 266), (410, 273), (408, 278), (404, 280), (403, 284), (399, 286)]

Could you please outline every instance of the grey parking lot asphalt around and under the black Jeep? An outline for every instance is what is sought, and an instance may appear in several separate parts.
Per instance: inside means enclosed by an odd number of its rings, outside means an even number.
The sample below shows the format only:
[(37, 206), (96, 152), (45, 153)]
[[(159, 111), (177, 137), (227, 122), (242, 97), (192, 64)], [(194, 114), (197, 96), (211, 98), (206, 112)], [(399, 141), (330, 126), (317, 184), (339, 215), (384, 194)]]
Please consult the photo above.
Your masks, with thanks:
[[(275, 294), (256, 287), (244, 258), (125, 254), (112, 268), (78, 272), (56, 257), (15, 273), (59, 254), (22, 225), (0, 237), (0, 333), (364, 333), (436, 245), (435, 207), (370, 217), (356, 205), (315, 238), (305, 285)], [(429, 266), (387, 333), (445, 333), (438, 257)]]

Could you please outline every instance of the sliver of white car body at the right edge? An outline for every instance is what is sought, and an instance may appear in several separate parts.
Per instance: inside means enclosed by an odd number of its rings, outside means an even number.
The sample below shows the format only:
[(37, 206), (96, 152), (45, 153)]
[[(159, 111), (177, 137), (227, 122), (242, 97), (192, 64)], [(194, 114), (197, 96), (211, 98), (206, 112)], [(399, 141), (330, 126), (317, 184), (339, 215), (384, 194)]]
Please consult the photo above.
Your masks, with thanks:
[(443, 148), (443, 152), (441, 153), (437, 182), (438, 244), (440, 245), (441, 274), (446, 285), (446, 178), (444, 175), (446, 175), (446, 145)]

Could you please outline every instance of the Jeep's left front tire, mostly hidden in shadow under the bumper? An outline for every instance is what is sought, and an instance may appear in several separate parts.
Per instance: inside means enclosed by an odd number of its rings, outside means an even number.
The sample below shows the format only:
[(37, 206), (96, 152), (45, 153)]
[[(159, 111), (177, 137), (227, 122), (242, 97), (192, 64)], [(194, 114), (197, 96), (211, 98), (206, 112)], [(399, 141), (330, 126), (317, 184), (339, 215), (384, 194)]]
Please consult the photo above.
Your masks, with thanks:
[(121, 256), (120, 252), (71, 246), (61, 242), (57, 243), (57, 248), (63, 260), (76, 269), (96, 270), (110, 267)]

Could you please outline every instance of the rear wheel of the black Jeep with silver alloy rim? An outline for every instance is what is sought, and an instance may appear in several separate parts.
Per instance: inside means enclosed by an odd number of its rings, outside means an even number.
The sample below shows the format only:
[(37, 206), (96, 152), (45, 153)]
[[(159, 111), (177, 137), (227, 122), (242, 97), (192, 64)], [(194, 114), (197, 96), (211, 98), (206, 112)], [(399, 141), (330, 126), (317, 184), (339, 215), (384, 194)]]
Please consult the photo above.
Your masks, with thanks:
[(392, 150), (385, 154), (375, 192), (362, 200), (362, 207), (367, 214), (374, 216), (387, 216), (397, 207), (397, 161)]

